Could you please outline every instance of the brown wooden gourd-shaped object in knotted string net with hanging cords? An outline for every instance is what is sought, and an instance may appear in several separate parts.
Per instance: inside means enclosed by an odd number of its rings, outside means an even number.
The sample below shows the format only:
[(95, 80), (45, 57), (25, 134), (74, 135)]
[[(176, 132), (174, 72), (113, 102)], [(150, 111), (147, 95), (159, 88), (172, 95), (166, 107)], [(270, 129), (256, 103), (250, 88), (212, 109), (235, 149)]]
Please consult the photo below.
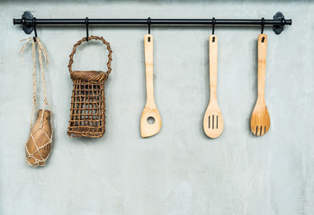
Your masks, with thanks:
[[(39, 38), (22, 39), (26, 41), (21, 49), (21, 55), (25, 47), (31, 43), (32, 49), (32, 111), (31, 111), (31, 131), (29, 134), (28, 142), (25, 145), (26, 162), (34, 167), (44, 166), (46, 160), (52, 150), (52, 115), (51, 108), (46, 93), (45, 73), (43, 68), (42, 55), (44, 56), (45, 64), (48, 68), (49, 58), (45, 47), (43, 47)], [(40, 76), (43, 89), (43, 107), (37, 110), (36, 99), (36, 44), (38, 47), (38, 58), (40, 63)], [(21, 59), (22, 60), (22, 59)], [(48, 109), (46, 109), (46, 107)], [(35, 121), (35, 114), (37, 120)]]

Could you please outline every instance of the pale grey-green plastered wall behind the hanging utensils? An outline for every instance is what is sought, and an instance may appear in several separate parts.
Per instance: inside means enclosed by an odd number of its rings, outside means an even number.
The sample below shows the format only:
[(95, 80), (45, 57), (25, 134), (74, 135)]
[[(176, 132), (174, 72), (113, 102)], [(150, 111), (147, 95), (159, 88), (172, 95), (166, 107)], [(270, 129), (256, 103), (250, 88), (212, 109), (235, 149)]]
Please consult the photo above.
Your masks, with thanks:
[[(210, 96), (211, 27), (152, 27), (162, 129), (142, 139), (147, 27), (91, 26), (90, 34), (103, 36), (113, 50), (105, 86), (107, 129), (98, 140), (71, 139), (68, 55), (85, 37), (85, 27), (38, 27), (50, 57), (47, 85), (55, 133), (47, 166), (31, 168), (24, 160), (31, 47), (20, 63), (19, 40), (29, 36), (12, 22), (26, 10), (37, 18), (272, 18), (283, 11), (292, 18), (291, 27), (279, 36), (265, 28), (271, 129), (261, 138), (249, 129), (259, 27), (216, 28), (225, 130), (211, 140), (202, 131)], [(0, 214), (314, 214), (313, 11), (314, 2), (301, 1), (2, 1)], [(106, 55), (97, 43), (80, 47), (74, 68), (103, 70)]]

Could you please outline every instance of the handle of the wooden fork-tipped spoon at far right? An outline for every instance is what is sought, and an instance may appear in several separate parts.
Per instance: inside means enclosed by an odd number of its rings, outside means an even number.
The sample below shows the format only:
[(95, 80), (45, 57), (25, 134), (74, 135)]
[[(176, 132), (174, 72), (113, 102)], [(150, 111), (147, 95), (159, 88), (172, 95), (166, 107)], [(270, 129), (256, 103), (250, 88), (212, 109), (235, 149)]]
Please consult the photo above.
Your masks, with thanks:
[(258, 98), (265, 99), (267, 35), (258, 36)]

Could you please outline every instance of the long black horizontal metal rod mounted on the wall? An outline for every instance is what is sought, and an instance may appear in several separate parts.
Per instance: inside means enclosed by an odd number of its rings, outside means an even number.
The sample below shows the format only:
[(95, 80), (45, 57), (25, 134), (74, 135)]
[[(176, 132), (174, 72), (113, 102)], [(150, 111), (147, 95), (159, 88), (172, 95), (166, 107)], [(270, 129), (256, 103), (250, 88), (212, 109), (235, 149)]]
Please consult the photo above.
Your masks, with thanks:
[[(262, 20), (215, 19), (215, 25), (262, 25)], [(151, 19), (150, 24), (158, 25), (211, 25), (212, 19)], [(13, 19), (13, 24), (32, 25), (32, 19)], [(85, 25), (85, 19), (36, 19), (36, 25)], [(88, 19), (92, 25), (140, 25), (148, 24), (148, 19)], [(266, 25), (292, 25), (292, 20), (265, 20)]]

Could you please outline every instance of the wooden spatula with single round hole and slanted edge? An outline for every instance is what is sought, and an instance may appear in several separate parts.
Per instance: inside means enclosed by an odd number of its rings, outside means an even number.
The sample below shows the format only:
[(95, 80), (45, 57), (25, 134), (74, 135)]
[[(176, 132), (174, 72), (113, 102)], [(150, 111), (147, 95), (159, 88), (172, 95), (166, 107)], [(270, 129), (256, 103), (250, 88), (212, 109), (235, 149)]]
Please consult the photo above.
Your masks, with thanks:
[(161, 119), (154, 99), (153, 85), (153, 35), (144, 36), (145, 70), (146, 70), (146, 105), (140, 117), (140, 134), (142, 137), (153, 136), (160, 131)]

